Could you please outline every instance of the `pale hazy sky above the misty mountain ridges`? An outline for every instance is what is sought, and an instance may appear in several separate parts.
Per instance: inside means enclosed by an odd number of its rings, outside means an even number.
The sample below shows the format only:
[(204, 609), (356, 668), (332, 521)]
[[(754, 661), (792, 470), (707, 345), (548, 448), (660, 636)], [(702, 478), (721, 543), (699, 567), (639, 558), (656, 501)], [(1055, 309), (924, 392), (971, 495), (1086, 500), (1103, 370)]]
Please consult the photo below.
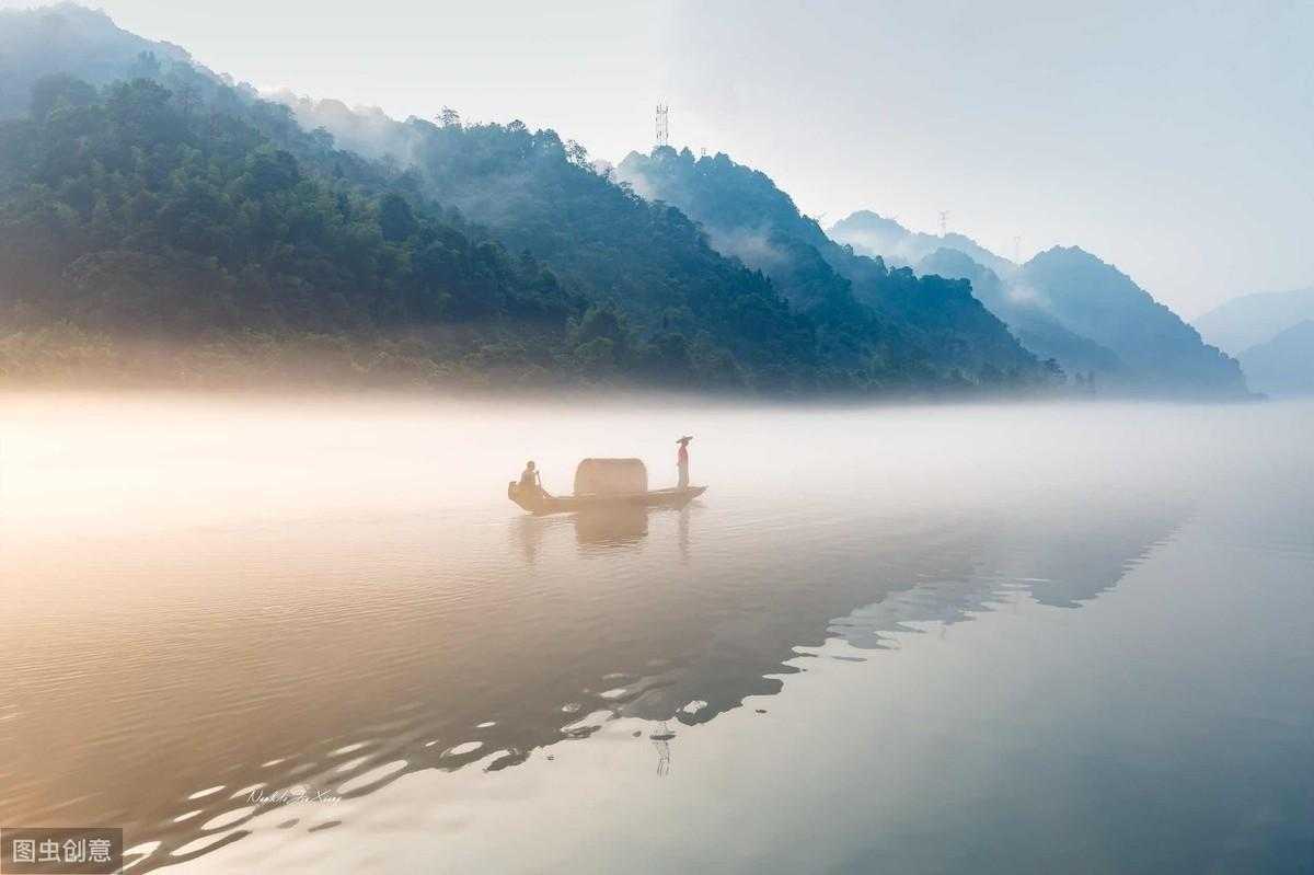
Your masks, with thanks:
[[(0, 7), (34, 5), (0, 0)], [(1314, 284), (1314, 3), (104, 0), (261, 89), (724, 151), (829, 226), (1081, 246), (1190, 318)]]

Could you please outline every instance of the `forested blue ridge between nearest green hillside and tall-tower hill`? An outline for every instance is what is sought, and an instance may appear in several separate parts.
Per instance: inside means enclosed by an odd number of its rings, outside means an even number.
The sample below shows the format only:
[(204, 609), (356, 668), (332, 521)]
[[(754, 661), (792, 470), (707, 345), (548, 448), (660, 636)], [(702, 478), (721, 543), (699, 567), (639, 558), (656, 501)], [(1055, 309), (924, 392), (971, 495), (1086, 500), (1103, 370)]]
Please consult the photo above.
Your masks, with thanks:
[(863, 344), (862, 326), (791, 307), (759, 272), (708, 246), (683, 213), (615, 185), (551, 130), (413, 118), (376, 133), (392, 160), (409, 162), (417, 192), (533, 254), (644, 334), (729, 349), (781, 388), (932, 386), (949, 376)]

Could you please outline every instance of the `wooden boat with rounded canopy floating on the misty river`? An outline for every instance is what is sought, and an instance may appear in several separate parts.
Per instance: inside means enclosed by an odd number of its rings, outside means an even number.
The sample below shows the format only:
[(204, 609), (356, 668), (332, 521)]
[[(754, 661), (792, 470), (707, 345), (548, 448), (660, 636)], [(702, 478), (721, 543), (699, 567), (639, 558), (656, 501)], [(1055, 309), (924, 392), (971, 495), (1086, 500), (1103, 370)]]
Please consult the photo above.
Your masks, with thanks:
[(531, 514), (569, 514), (607, 507), (683, 507), (707, 491), (706, 486), (648, 489), (648, 469), (637, 459), (585, 459), (576, 468), (574, 495), (547, 495), (520, 489), (516, 481), (506, 497)]

